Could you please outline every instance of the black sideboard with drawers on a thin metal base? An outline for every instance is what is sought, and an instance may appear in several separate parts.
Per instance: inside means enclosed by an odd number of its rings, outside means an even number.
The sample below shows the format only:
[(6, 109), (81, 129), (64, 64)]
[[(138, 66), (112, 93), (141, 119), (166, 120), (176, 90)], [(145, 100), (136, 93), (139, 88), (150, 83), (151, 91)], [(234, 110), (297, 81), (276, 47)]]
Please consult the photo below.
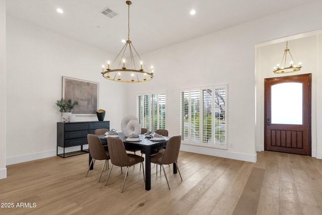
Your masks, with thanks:
[[(110, 130), (110, 121), (91, 122), (57, 122), (57, 156), (62, 158), (88, 153), (83, 150), (83, 145), (87, 145), (87, 134), (95, 133), (98, 128)], [(65, 153), (65, 148), (81, 146), (81, 150)], [(58, 148), (63, 148), (63, 153), (58, 154)]]

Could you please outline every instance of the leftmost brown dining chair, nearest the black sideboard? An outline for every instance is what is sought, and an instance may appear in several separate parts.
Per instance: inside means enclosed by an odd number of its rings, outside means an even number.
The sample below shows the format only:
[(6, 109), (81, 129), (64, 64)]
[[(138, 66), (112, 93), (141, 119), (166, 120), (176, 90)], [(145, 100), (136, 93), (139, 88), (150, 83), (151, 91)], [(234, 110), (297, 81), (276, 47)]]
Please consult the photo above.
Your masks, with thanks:
[(92, 156), (92, 160), (85, 177), (87, 177), (87, 175), (89, 174), (90, 168), (95, 160), (104, 160), (104, 164), (103, 164), (100, 179), (99, 179), (99, 182), (100, 182), (105, 165), (107, 165), (107, 168), (109, 167), (108, 160), (110, 159), (110, 155), (107, 151), (104, 150), (101, 139), (98, 135), (89, 133), (87, 134), (87, 140), (89, 143), (89, 150)]

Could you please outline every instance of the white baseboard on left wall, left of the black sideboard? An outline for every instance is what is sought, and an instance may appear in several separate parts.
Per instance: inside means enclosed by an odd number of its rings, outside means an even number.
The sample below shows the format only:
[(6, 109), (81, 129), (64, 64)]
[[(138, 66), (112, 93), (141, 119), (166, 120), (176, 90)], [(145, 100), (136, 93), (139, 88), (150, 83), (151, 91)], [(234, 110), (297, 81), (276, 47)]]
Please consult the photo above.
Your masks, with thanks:
[(53, 157), (53, 156), (56, 156), (56, 150), (28, 154), (28, 155), (15, 156), (15, 157), (7, 158), (6, 165), (19, 164), (19, 163), (23, 163), (23, 162), (27, 162), (27, 161), (34, 161), (34, 160), (49, 158), (49, 157)]

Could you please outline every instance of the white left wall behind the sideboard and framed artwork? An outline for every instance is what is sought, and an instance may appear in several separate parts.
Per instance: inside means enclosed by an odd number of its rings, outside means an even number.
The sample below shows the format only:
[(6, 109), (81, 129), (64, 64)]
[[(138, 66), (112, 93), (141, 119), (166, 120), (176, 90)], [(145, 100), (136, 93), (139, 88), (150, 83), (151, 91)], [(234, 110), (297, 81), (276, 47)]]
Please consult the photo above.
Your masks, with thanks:
[[(56, 156), (62, 76), (99, 82), (99, 109), (120, 128), (124, 88), (102, 78), (106, 52), (7, 16), (7, 165)], [(116, 113), (116, 114), (115, 114)], [(97, 116), (76, 121), (97, 121)], [(79, 147), (80, 148), (80, 147)]]

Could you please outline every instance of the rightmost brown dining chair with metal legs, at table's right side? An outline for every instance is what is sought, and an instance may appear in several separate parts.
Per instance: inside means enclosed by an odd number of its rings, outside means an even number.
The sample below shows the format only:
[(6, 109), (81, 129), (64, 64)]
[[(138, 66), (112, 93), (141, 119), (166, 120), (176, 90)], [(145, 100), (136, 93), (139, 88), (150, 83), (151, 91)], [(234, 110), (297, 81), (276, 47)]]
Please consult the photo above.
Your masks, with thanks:
[(179, 171), (178, 167), (178, 156), (179, 156), (179, 151), (180, 151), (180, 145), (181, 145), (181, 135), (179, 136), (173, 136), (170, 137), (170, 139), (167, 142), (166, 150), (164, 153), (156, 153), (154, 155), (151, 155), (151, 163), (153, 164), (158, 164), (161, 165), (163, 168), (163, 172), (165, 173), (165, 177), (167, 180), (167, 184), (170, 190), (167, 174), (165, 171), (164, 164), (172, 164), (176, 163), (177, 164), (177, 169), (182, 181), (182, 177)]

